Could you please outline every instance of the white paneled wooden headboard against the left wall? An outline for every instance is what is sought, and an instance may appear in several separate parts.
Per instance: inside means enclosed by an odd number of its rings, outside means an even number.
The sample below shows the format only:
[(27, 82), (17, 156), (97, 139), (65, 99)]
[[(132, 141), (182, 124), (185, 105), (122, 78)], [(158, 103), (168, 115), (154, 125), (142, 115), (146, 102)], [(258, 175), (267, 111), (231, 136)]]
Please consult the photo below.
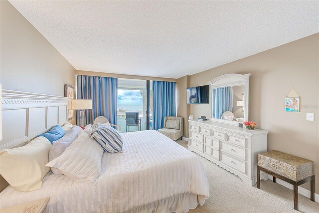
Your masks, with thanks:
[(0, 149), (23, 146), (56, 124), (68, 120), (68, 101), (61, 96), (2, 90)]

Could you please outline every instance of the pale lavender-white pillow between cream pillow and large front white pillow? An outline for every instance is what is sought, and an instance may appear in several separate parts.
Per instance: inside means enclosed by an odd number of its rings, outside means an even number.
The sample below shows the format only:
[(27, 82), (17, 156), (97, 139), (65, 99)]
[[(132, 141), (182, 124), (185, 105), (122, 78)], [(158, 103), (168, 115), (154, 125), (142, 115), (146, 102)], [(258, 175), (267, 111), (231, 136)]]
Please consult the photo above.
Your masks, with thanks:
[[(62, 155), (64, 150), (70, 146), (70, 144), (78, 137), (78, 133), (82, 131), (82, 128), (74, 125), (70, 131), (68, 131), (62, 138), (57, 141), (53, 141), (50, 148), (49, 161)], [(63, 175), (59, 170), (51, 169), (54, 175)]]

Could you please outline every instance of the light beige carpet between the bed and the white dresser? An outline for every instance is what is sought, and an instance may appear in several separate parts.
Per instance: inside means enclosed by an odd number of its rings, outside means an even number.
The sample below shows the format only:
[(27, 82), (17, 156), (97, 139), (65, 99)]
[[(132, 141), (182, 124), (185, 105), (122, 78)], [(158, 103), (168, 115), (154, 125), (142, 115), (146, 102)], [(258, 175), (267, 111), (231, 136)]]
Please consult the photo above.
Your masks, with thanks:
[[(186, 141), (176, 142), (187, 148)], [(216, 164), (197, 156), (206, 169), (210, 197), (203, 206), (198, 206), (189, 213), (297, 213), (294, 210), (292, 190), (271, 180), (261, 181), (259, 190), (256, 186), (245, 184)], [(319, 203), (299, 194), (299, 212), (319, 213)]]

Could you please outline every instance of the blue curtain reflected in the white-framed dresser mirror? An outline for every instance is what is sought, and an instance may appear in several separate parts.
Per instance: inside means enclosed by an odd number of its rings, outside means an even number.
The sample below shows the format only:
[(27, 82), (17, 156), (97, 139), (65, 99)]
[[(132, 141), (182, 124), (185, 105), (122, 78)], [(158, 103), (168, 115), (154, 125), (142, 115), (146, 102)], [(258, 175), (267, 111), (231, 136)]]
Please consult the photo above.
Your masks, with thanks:
[(231, 87), (213, 89), (213, 118), (221, 118), (224, 112), (232, 111)]

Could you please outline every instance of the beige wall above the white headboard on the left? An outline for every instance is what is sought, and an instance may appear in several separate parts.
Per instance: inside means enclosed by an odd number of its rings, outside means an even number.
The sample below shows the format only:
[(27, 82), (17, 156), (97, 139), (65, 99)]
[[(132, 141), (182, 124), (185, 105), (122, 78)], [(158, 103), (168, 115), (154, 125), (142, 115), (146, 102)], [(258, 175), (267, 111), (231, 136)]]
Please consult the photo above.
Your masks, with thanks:
[(2, 89), (64, 96), (64, 84), (75, 85), (73, 66), (6, 0), (0, 30)]

